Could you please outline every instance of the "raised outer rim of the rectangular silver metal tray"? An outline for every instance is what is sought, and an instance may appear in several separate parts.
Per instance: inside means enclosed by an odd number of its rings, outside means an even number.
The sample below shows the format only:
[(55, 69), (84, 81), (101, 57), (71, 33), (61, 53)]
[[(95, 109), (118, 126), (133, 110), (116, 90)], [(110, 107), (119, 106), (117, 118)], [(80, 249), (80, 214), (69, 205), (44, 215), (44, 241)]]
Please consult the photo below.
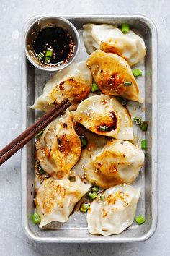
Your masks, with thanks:
[[(32, 17), (30, 17), (29, 20), (27, 20), (24, 23), (24, 26), (22, 27), (22, 130), (26, 129), (26, 76), (24, 75), (25, 70), (25, 59), (27, 58), (24, 54), (24, 30), (27, 27), (27, 25), (30, 23), (31, 20), (38, 19), (40, 17), (65, 17), (66, 19), (71, 19), (73, 17), (76, 18), (91, 18), (91, 19), (115, 19), (115, 20), (140, 20), (140, 22), (144, 22), (151, 30), (152, 35), (152, 56), (154, 58), (154, 61), (152, 63), (152, 85), (153, 92), (152, 92), (152, 117), (153, 117), (153, 127), (157, 127), (157, 99), (158, 99), (158, 89), (157, 89), (157, 30), (156, 25), (153, 23), (153, 21), (143, 15), (107, 15), (107, 14), (37, 14)], [(39, 237), (30, 231), (29, 226), (27, 226), (27, 207), (26, 207), (26, 183), (27, 183), (27, 161), (26, 161), (26, 146), (22, 148), (21, 151), (21, 171), (22, 171), (22, 229), (24, 230), (24, 234), (31, 239), (34, 242), (55, 242), (55, 243), (115, 243), (115, 242), (143, 242), (146, 239), (153, 236), (153, 234), (156, 231), (157, 227), (157, 129), (153, 129), (153, 136), (152, 136), (152, 143), (153, 148), (152, 155), (153, 158), (151, 159), (152, 166), (153, 166), (153, 173), (152, 173), (152, 197), (151, 197), (151, 212), (152, 212), (152, 223), (150, 229), (146, 232), (146, 234), (143, 234), (143, 236), (140, 237), (125, 237), (125, 238), (118, 238), (117, 236), (94, 236), (91, 238), (81, 238), (81, 237)]]

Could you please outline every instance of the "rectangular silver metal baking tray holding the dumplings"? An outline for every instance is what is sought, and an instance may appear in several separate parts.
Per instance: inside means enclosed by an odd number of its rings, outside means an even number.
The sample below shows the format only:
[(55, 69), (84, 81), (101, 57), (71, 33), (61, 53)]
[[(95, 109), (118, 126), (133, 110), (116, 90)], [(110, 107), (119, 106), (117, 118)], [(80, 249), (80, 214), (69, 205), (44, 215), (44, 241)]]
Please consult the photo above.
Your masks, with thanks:
[[(50, 73), (36, 69), (30, 64), (24, 54), (24, 33), (32, 22), (42, 16), (37, 15), (26, 22), (22, 33), (22, 129), (30, 127), (37, 118), (37, 112), (32, 111), (30, 106), (34, 103), (37, 95), (42, 93), (45, 82)], [(73, 213), (68, 223), (52, 225), (49, 229), (39, 229), (32, 224), (30, 216), (34, 212), (34, 156), (35, 146), (31, 140), (22, 149), (22, 225), (25, 233), (30, 239), (37, 242), (138, 242), (148, 239), (156, 231), (157, 223), (157, 34), (153, 22), (143, 16), (113, 16), (113, 15), (60, 15), (70, 20), (79, 30), (81, 48), (76, 61), (86, 59), (86, 51), (82, 41), (82, 25), (85, 23), (109, 23), (120, 25), (128, 22), (130, 27), (143, 37), (146, 43), (147, 54), (145, 61), (138, 64), (143, 70), (143, 77), (138, 82), (145, 103), (143, 105), (143, 118), (148, 120), (148, 131), (145, 135), (138, 134), (138, 139), (143, 136), (148, 140), (145, 166), (134, 186), (142, 189), (138, 202), (137, 214), (146, 216), (146, 222), (138, 226), (135, 222), (121, 234), (112, 236), (99, 236), (89, 234), (86, 227), (86, 215)], [(130, 106), (129, 106), (130, 107)], [(138, 103), (136, 105), (138, 113)], [(140, 107), (141, 109), (141, 107)], [(135, 114), (136, 114), (135, 113)], [(141, 110), (140, 110), (141, 114)], [(137, 140), (138, 144), (140, 140)], [(81, 215), (80, 215), (81, 214)]]

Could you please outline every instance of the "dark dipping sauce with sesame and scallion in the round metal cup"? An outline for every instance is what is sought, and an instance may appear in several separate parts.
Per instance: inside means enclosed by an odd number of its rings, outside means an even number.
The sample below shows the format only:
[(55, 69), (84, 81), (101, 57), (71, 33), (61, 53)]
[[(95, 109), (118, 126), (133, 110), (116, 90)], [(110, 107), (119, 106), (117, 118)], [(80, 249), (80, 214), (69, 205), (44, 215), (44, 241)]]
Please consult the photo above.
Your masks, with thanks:
[(43, 64), (60, 66), (73, 56), (73, 38), (61, 27), (49, 26), (40, 30), (33, 42), (33, 51)]

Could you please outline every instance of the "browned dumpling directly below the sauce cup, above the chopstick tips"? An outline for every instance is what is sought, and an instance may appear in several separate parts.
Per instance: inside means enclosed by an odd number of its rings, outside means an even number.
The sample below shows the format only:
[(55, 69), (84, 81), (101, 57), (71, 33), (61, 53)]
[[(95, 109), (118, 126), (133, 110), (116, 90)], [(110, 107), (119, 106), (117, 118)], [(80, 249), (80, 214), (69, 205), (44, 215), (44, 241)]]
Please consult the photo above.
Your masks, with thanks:
[(89, 95), (91, 82), (91, 72), (86, 67), (86, 61), (72, 64), (61, 72), (57, 72), (47, 82), (43, 94), (37, 98), (31, 108), (46, 112), (63, 101), (64, 98), (68, 98), (73, 109), (76, 109), (78, 103)]

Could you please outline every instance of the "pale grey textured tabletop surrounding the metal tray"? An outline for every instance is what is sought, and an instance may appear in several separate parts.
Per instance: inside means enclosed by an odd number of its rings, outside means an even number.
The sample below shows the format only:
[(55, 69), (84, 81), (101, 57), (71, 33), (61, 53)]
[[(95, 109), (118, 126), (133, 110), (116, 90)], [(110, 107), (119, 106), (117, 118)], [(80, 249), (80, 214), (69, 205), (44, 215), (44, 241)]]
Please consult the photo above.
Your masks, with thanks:
[(158, 229), (131, 244), (37, 244), (21, 226), (20, 154), (0, 170), (0, 255), (170, 255), (170, 2), (169, 0), (0, 0), (0, 148), (21, 127), (21, 31), (35, 14), (143, 14), (158, 28)]

